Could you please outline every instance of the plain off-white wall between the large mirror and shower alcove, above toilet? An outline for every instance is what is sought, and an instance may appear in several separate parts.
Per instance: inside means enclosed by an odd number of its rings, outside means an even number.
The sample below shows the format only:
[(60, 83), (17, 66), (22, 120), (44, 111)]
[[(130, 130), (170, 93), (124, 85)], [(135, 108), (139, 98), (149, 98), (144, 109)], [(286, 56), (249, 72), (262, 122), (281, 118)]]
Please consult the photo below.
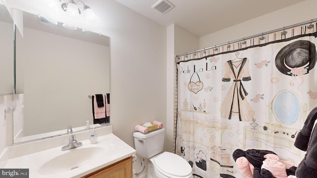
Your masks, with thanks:
[(111, 125), (134, 147), (135, 125), (166, 124), (166, 28), (118, 3), (111, 8), (120, 24), (109, 34)]

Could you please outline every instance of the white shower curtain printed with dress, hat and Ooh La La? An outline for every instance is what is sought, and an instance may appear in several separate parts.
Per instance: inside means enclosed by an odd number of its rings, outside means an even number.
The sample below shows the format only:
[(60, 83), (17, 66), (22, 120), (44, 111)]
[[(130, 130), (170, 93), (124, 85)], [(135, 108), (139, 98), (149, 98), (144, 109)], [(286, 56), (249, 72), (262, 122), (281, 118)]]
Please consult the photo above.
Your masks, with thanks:
[(175, 153), (194, 178), (243, 178), (237, 150), (304, 158), (294, 141), (317, 106), (317, 33), (306, 27), (176, 58)]

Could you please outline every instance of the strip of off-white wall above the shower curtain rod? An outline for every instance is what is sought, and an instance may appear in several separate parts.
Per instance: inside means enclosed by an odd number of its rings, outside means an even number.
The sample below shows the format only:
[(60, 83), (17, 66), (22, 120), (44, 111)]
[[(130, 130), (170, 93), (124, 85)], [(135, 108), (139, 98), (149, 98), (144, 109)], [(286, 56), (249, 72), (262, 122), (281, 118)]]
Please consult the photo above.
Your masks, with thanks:
[(298, 4), (211, 33), (199, 38), (199, 49), (315, 19), (317, 18), (316, 7), (317, 0), (305, 0)]

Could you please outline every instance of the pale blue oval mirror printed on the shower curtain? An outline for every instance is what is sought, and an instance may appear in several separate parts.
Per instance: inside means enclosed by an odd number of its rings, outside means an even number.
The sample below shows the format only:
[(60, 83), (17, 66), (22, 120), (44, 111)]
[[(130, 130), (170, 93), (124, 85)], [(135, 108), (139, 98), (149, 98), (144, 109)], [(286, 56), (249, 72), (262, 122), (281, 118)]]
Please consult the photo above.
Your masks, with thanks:
[[(288, 104), (285, 104), (288, 103)], [(301, 118), (302, 106), (299, 97), (292, 90), (281, 90), (272, 101), (274, 117), (283, 125), (295, 124)]]

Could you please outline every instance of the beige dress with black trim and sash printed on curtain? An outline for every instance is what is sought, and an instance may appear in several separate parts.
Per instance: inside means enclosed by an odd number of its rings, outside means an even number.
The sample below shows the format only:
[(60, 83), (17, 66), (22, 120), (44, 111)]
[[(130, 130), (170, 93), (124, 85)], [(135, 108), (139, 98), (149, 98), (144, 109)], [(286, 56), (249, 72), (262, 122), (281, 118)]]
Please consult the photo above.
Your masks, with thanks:
[[(242, 81), (250, 81), (249, 59), (236, 58), (229, 60), (224, 65), (224, 77), (222, 82), (230, 82), (230, 76), (234, 79), (227, 95), (221, 104), (221, 117), (231, 119), (239, 116), (240, 121), (252, 121), (255, 112), (248, 103), (248, 92), (243, 87)], [(242, 80), (241, 80), (242, 79)]]

